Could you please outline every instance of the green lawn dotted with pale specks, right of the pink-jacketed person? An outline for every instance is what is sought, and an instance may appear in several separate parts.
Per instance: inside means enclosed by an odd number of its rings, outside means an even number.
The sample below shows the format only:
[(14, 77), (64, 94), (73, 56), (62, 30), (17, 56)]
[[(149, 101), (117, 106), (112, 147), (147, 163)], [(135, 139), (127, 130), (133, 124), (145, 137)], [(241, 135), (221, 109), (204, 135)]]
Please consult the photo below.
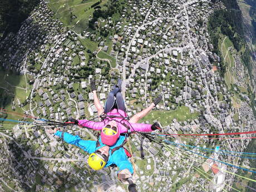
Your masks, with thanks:
[(149, 121), (152, 123), (157, 120), (162, 126), (167, 126), (173, 122), (173, 119), (177, 121), (193, 120), (199, 116), (199, 112), (190, 113), (189, 107), (180, 106), (176, 110), (171, 111), (152, 111), (149, 115), (144, 117), (142, 121)]

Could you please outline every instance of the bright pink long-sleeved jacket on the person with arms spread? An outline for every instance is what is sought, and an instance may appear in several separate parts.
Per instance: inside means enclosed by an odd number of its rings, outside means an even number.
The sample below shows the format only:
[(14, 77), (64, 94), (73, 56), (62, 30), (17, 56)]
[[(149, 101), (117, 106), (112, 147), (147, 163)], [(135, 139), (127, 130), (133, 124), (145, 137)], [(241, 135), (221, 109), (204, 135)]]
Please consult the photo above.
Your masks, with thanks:
[[(109, 121), (115, 120), (117, 127), (120, 130), (120, 133), (128, 132), (127, 127), (130, 128), (130, 131), (139, 131), (139, 132), (151, 132), (151, 125), (150, 124), (134, 124), (129, 123), (128, 120), (124, 119), (127, 117), (127, 114), (125, 111), (113, 109), (110, 112), (107, 113), (108, 116), (116, 116), (116, 117), (106, 117), (101, 122), (94, 122), (94, 121), (88, 121), (88, 120), (78, 120), (78, 125), (88, 127), (94, 130), (101, 130), (103, 129)], [(124, 125), (126, 126), (124, 126)]]

